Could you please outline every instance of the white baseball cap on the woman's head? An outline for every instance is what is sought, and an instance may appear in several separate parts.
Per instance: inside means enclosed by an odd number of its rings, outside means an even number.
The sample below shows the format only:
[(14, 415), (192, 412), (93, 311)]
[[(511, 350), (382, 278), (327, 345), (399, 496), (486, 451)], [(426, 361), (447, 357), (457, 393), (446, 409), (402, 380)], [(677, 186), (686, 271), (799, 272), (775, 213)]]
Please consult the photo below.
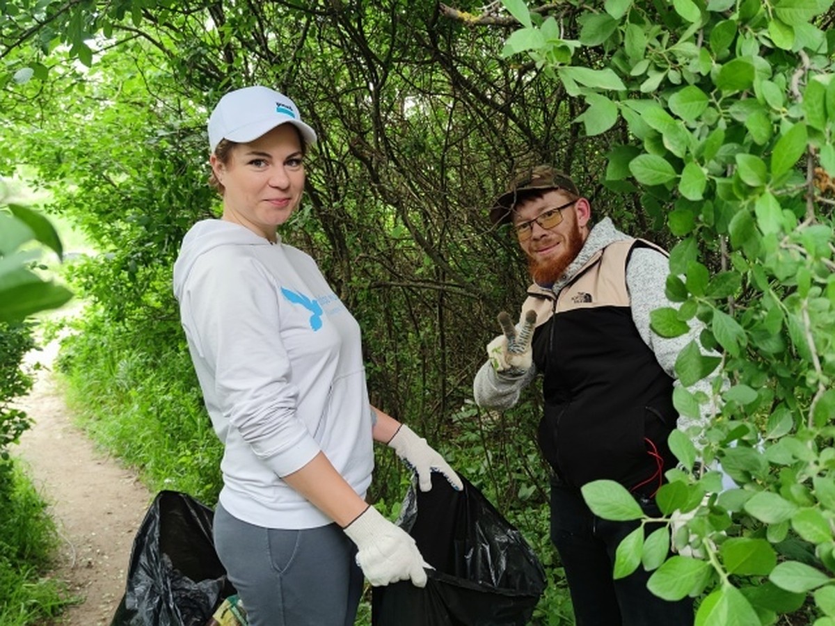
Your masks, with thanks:
[(236, 89), (220, 98), (209, 116), (209, 149), (215, 152), (220, 139), (245, 144), (287, 123), (299, 129), (307, 144), (316, 144), (316, 132), (301, 121), (296, 103), (286, 95), (261, 86)]

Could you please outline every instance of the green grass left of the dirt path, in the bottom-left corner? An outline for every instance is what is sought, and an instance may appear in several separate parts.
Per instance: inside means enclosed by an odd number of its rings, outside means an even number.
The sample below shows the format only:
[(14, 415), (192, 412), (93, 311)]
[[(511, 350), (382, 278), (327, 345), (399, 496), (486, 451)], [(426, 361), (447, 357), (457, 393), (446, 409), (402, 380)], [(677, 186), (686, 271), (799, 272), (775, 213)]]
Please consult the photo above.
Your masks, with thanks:
[(44, 578), (58, 534), (47, 505), (13, 461), (0, 464), (0, 624), (28, 626), (76, 602), (65, 585)]

